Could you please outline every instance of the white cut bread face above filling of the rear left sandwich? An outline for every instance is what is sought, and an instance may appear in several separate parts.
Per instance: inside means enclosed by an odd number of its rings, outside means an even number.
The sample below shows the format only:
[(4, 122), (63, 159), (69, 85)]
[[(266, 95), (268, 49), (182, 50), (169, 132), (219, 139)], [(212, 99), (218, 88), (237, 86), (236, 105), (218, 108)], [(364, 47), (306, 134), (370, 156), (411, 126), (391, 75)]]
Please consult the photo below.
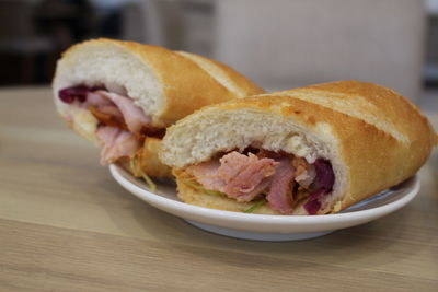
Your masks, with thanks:
[(72, 47), (58, 61), (53, 89), (61, 116), (69, 114), (69, 105), (58, 98), (59, 90), (79, 84), (103, 85), (111, 92), (129, 96), (155, 119), (164, 106), (163, 89), (153, 71), (117, 42), (88, 42)]

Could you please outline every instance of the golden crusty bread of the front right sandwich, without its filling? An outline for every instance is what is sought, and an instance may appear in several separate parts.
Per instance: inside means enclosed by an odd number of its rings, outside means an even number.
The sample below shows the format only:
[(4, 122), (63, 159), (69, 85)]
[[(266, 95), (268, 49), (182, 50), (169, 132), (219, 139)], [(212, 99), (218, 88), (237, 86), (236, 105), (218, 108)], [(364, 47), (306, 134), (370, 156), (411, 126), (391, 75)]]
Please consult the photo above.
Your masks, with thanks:
[(160, 157), (180, 170), (178, 180), (184, 167), (249, 145), (308, 162), (324, 157), (335, 173), (333, 192), (322, 202), (327, 213), (414, 175), (436, 143), (427, 119), (396, 92), (341, 81), (205, 107), (168, 129)]

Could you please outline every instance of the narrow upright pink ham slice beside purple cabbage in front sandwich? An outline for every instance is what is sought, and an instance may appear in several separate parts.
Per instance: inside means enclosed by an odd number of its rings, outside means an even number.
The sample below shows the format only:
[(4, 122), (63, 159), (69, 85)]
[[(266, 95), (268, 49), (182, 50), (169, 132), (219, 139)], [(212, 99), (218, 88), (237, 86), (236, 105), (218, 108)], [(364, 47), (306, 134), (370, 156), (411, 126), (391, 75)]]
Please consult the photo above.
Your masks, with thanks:
[(269, 194), (266, 199), (269, 207), (283, 214), (292, 213), (293, 200), (293, 177), (295, 168), (289, 157), (281, 159), (275, 168), (272, 178)]

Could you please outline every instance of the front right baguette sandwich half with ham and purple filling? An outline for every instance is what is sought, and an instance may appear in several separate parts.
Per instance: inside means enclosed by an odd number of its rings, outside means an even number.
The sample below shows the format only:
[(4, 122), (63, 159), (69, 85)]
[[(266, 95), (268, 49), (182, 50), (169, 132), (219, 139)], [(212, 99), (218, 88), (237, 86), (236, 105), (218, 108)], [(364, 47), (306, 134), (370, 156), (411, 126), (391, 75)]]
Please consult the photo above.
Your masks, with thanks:
[(399, 93), (339, 81), (207, 106), (168, 129), (159, 156), (184, 202), (313, 215), (413, 176), (437, 141)]

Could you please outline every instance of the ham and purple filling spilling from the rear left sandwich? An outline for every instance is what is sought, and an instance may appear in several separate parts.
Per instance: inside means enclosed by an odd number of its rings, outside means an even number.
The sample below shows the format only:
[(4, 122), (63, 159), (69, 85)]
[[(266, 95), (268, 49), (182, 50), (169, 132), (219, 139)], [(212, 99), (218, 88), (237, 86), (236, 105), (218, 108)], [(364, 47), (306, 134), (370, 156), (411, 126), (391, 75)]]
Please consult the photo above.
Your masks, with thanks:
[(127, 96), (103, 86), (77, 85), (58, 92), (70, 106), (88, 109), (99, 120), (96, 137), (102, 145), (101, 164), (134, 157), (146, 137), (163, 138), (165, 129), (151, 125), (151, 118)]

